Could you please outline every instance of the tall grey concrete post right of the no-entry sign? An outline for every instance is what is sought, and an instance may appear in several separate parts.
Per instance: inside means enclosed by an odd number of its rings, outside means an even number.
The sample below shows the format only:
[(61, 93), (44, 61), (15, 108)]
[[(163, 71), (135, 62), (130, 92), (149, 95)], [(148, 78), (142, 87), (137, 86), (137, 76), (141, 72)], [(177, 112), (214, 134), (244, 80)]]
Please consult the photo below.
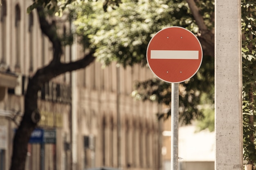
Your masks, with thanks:
[(215, 0), (215, 170), (243, 170), (241, 2)]

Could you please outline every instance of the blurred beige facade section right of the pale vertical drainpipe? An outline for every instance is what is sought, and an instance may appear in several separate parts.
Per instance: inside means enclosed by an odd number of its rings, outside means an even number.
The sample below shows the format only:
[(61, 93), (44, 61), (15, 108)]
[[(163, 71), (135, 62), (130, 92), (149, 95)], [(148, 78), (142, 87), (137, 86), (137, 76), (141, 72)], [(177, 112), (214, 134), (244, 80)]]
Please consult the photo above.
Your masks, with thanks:
[[(83, 56), (82, 51), (80, 56)], [(118, 68), (112, 63), (102, 68), (99, 62), (77, 72), (79, 169), (99, 166), (121, 166), (124, 170), (160, 169), (161, 134), (156, 117), (159, 107), (131, 97), (135, 81), (152, 76), (148, 68), (139, 65)], [(120, 97), (117, 97), (117, 89), (120, 89)], [(117, 147), (119, 130), (120, 152)], [(93, 146), (83, 146), (84, 137), (92, 137)], [(121, 157), (121, 165), (118, 165), (118, 157)]]

